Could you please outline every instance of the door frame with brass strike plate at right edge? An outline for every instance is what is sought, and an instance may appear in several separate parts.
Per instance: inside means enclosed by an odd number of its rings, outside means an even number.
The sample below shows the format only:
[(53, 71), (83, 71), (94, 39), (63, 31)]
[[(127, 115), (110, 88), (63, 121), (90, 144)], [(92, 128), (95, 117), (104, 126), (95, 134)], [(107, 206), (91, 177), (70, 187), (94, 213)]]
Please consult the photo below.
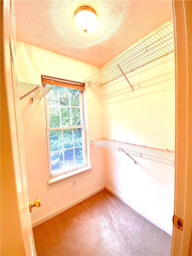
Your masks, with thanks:
[(192, 232), (192, 1), (172, 0), (175, 41), (175, 195), (171, 255), (191, 255)]

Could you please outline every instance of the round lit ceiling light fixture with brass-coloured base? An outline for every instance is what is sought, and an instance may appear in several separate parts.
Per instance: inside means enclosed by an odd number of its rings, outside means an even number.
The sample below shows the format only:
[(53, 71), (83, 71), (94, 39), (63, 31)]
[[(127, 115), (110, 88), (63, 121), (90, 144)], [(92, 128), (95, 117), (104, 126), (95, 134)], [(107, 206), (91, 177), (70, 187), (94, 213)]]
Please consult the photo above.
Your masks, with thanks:
[(80, 6), (74, 13), (74, 26), (85, 33), (92, 33), (98, 27), (96, 11), (90, 6)]

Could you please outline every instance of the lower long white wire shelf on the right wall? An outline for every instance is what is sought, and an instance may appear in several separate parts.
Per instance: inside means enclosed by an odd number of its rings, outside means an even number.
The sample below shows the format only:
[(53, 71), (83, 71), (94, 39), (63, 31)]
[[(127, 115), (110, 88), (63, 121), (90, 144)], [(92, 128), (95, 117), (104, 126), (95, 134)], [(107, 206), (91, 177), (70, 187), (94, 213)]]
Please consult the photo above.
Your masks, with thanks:
[[(152, 148), (108, 139), (92, 140), (89, 143), (164, 164), (174, 165), (175, 161), (174, 151), (168, 149)], [(133, 158), (132, 160), (136, 163)]]

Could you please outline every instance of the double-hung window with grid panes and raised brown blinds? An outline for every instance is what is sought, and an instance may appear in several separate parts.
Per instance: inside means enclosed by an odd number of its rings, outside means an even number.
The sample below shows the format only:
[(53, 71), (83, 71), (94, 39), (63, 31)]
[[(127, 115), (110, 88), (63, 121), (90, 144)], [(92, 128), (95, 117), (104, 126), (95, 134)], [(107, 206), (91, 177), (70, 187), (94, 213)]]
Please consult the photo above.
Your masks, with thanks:
[(84, 84), (42, 76), (50, 177), (87, 165)]

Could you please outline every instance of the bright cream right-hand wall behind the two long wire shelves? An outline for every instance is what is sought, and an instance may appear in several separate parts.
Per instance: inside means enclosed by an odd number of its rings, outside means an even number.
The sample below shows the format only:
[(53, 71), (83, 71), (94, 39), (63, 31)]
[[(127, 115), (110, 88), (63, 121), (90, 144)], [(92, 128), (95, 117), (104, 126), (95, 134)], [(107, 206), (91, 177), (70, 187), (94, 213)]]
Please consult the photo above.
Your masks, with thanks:
[[(102, 88), (103, 138), (174, 150), (174, 54)], [(110, 95), (110, 97), (109, 97)], [(172, 234), (174, 166), (105, 149), (106, 187)]]

